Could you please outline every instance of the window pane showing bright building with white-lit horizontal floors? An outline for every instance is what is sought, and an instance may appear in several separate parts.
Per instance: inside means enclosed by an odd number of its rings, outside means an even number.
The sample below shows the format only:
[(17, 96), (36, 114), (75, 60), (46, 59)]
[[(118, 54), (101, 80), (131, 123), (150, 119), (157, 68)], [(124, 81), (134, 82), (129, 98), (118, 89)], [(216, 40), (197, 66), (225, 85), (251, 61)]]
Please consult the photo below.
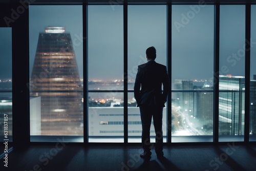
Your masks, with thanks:
[(245, 6), (220, 6), (219, 141), (243, 141)]

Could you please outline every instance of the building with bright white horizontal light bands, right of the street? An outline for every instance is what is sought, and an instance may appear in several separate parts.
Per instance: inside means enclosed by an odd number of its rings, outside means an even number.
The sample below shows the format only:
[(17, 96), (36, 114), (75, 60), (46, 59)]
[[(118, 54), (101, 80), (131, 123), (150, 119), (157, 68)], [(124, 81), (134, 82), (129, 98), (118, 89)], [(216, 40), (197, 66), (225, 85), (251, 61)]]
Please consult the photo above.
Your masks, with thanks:
[(244, 135), (244, 88), (244, 77), (220, 75), (220, 135)]

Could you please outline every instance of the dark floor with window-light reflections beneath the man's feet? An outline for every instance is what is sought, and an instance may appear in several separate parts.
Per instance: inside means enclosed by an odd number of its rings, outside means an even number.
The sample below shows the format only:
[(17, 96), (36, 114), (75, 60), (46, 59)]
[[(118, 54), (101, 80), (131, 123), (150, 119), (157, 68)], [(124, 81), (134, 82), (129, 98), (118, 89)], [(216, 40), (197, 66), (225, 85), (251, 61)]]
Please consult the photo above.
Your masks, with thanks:
[[(1, 145), (2, 147), (2, 145)], [(4, 146), (3, 146), (4, 149)], [(8, 154), (8, 169), (0, 160), (0, 170), (255, 170), (256, 145), (226, 143), (222, 145), (164, 146), (159, 160), (154, 148), (149, 161), (139, 157), (139, 144), (52, 143), (15, 148)]]

